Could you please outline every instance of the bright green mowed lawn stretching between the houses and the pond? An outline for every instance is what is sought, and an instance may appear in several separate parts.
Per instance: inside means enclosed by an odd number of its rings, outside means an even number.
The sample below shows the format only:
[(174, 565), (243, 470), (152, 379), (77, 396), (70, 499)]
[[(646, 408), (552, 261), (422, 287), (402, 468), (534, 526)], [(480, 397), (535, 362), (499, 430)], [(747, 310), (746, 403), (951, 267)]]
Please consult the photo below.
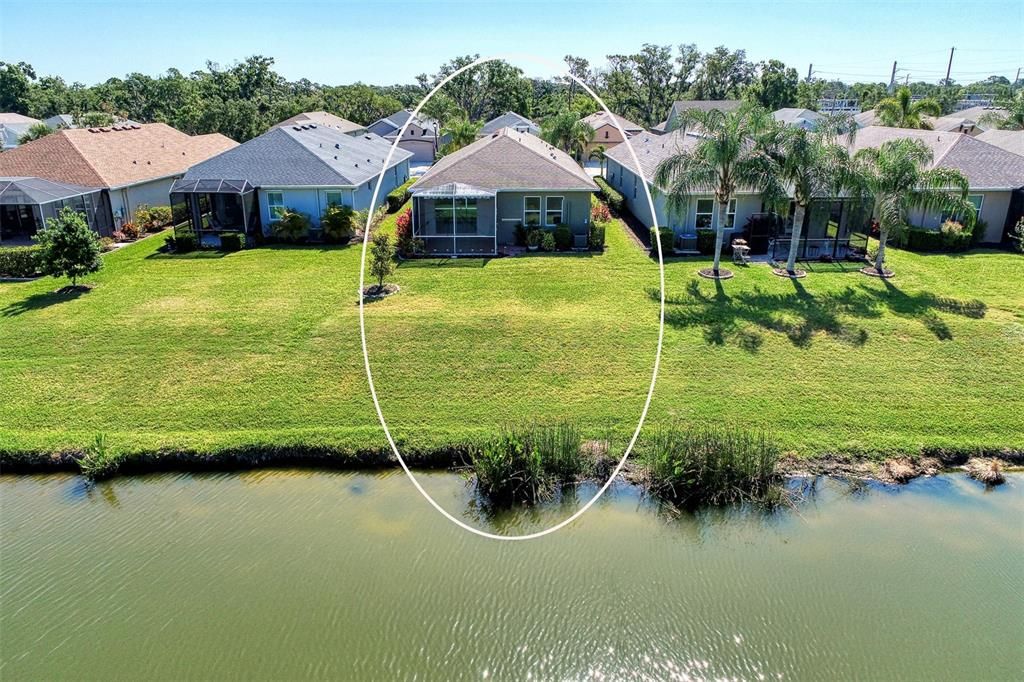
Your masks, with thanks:
[[(574, 420), (631, 433), (657, 342), (657, 266), (600, 255), (402, 263), (367, 306), (385, 417), (409, 446)], [(384, 444), (359, 346), (359, 249), (105, 257), (78, 297), (0, 284), (0, 451)], [(770, 430), (801, 456), (1024, 447), (1024, 258), (892, 250), (883, 282), (815, 265), (716, 284), (667, 263), (651, 422)]]

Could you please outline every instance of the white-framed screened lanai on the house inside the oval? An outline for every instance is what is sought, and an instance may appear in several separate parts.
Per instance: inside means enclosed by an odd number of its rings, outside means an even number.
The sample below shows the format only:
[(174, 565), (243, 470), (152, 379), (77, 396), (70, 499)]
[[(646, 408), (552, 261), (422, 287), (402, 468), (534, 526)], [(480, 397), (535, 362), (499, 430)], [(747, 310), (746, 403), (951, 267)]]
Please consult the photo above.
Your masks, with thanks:
[(479, 256), (498, 253), (496, 194), (450, 182), (413, 194), (413, 237), (428, 254)]

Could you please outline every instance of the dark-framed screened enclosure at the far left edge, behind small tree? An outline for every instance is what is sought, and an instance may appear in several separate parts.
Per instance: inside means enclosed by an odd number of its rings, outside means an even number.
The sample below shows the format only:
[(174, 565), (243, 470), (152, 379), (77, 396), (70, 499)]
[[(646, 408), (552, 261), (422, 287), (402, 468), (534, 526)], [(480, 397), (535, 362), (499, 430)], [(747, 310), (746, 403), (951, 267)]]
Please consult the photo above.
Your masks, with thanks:
[(0, 177), (0, 244), (28, 243), (48, 218), (70, 206), (106, 237), (114, 230), (102, 187), (82, 187), (39, 177)]

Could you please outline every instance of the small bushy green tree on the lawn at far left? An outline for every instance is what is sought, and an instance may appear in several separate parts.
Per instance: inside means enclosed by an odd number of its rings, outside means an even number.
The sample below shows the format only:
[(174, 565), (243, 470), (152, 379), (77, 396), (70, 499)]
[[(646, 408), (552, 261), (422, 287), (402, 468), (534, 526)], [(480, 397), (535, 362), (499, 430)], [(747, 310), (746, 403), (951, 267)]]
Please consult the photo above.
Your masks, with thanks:
[(55, 278), (71, 278), (73, 287), (78, 285), (80, 276), (103, 266), (99, 237), (85, 217), (70, 206), (60, 209), (55, 218), (46, 220), (46, 226), (36, 235), (36, 242), (40, 246), (40, 269)]

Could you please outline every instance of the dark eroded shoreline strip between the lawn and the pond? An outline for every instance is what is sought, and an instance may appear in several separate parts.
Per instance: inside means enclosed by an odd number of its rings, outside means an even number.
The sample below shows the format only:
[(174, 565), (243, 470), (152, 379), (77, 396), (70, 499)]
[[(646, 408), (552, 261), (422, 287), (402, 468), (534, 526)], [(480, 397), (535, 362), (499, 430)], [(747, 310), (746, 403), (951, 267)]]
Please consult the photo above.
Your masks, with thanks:
[[(469, 444), (460, 444), (429, 450), (404, 449), (402, 457), (410, 468), (456, 470), (469, 466)], [(84, 455), (82, 450), (2, 451), (0, 474), (81, 473), (79, 460)], [(639, 483), (643, 481), (643, 475), (636, 466), (635, 457), (636, 454), (626, 463), (622, 478)], [(828, 476), (900, 484), (921, 476), (951, 471), (967, 472), (968, 464), (973, 460), (994, 461), (1004, 469), (1015, 470), (1024, 468), (1024, 450), (946, 450), (888, 454), (884, 457), (824, 455), (801, 458), (791, 455), (779, 461), (775, 472), (781, 478)], [(399, 463), (390, 450), (381, 447), (348, 450), (331, 445), (259, 445), (216, 452), (158, 450), (119, 456), (113, 472), (102, 478), (158, 472), (232, 472), (264, 468), (373, 471), (398, 469)]]

